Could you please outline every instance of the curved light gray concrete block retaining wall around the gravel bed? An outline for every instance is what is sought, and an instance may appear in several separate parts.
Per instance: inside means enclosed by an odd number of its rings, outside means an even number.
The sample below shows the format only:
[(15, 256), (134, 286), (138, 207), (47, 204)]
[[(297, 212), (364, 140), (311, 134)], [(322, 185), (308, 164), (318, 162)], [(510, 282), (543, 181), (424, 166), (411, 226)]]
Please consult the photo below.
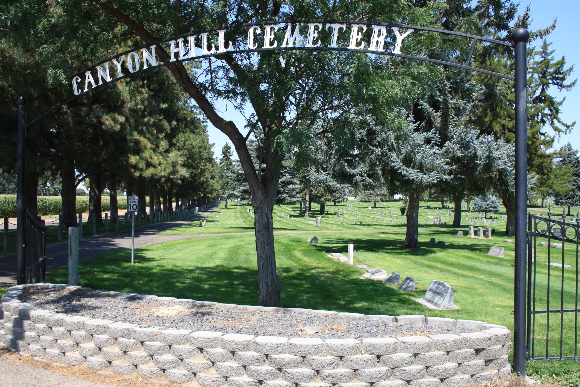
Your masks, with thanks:
[[(18, 285), (2, 297), (0, 345), (37, 359), (204, 387), (464, 387), (509, 374), (510, 331), (484, 321), (341, 313), (477, 332), (426, 337), (285, 338), (165, 328), (54, 313), (20, 301)], [(113, 292), (115, 293), (115, 292)], [(140, 296), (151, 298), (154, 296)], [(168, 298), (173, 300), (172, 298)], [(174, 300), (173, 302), (194, 302)], [(196, 305), (212, 302), (197, 301)], [(257, 306), (240, 308), (263, 309)], [(336, 312), (266, 308), (285, 313)], [(274, 310), (276, 309), (276, 310)]]

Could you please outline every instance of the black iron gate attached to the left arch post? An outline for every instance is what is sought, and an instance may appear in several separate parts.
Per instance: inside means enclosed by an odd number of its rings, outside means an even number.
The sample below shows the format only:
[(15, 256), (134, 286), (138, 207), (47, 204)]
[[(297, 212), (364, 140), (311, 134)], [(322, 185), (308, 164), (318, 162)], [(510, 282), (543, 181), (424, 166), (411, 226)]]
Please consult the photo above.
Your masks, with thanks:
[(26, 283), (42, 283), (46, 274), (46, 226), (26, 211)]

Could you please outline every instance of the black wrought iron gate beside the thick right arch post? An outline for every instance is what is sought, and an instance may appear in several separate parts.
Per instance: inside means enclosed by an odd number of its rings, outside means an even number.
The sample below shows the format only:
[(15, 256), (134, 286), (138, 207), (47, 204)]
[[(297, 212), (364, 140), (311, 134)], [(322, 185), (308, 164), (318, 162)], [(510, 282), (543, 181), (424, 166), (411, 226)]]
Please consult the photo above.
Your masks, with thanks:
[(527, 360), (577, 360), (580, 217), (528, 215)]

